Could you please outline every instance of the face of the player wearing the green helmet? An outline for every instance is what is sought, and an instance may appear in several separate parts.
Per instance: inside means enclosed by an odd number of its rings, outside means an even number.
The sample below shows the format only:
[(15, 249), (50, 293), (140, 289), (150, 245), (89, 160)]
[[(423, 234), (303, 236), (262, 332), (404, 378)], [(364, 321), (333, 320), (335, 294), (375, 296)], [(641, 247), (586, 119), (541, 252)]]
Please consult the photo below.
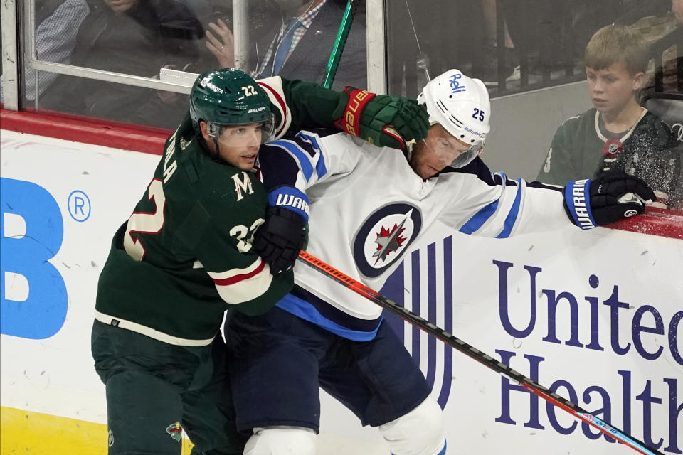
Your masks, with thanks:
[(211, 152), (217, 151), (223, 161), (242, 171), (250, 171), (254, 167), (263, 136), (263, 123), (223, 127), (216, 141), (208, 134), (208, 124), (201, 122), (200, 125), (206, 146)]

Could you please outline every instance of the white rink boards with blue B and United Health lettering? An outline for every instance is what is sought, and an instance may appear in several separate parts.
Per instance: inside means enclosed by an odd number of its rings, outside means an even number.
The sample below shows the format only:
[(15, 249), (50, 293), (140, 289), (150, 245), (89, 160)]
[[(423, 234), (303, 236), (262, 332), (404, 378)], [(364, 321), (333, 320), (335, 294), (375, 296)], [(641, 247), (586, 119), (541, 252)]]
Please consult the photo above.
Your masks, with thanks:
[[(159, 156), (6, 130), (0, 142), (0, 453), (103, 454), (104, 387), (90, 358), (97, 277)], [(383, 293), (664, 454), (683, 453), (683, 240), (571, 226), (494, 240), (438, 226), (412, 248)], [(449, 453), (632, 452), (387, 323), (444, 407)], [(324, 394), (319, 446), (388, 454)]]

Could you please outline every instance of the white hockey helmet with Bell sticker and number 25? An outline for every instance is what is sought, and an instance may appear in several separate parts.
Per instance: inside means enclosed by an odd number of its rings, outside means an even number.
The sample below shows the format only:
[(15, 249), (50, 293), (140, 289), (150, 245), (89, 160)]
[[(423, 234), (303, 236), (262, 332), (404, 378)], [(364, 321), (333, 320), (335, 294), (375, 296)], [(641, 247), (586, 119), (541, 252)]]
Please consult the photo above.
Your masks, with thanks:
[(438, 123), (456, 139), (470, 144), (470, 149), (450, 166), (461, 168), (475, 159), (491, 129), (491, 101), (484, 82), (459, 70), (448, 70), (425, 85), (418, 102), (426, 105), (430, 124)]

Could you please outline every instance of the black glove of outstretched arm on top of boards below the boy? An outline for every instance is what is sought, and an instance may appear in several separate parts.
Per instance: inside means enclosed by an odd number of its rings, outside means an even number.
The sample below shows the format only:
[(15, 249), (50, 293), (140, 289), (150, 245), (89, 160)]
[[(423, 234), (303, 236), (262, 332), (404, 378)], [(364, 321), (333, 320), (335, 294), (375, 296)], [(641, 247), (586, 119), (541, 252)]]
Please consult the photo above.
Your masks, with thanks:
[(622, 173), (569, 182), (564, 187), (564, 209), (583, 230), (645, 213), (645, 205), (656, 198), (647, 183)]

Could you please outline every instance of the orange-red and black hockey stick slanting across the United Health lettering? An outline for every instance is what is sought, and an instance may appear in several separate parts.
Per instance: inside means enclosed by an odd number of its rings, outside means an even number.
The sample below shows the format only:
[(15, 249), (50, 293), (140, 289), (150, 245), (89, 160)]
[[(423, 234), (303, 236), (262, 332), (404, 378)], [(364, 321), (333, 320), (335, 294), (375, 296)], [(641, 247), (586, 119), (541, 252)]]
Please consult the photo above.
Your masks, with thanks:
[(460, 338), (456, 338), (451, 333), (448, 333), (447, 331), (443, 330), (443, 328), (435, 326), (433, 323), (430, 323), (426, 319), (423, 319), (422, 317), (418, 316), (417, 314), (414, 314), (408, 309), (403, 308), (403, 306), (400, 306), (395, 301), (387, 299), (385, 296), (379, 294), (376, 291), (373, 291), (364, 284), (357, 282), (355, 279), (347, 276), (342, 272), (339, 272), (339, 270), (335, 269), (334, 267), (325, 264), (320, 259), (317, 259), (317, 257), (309, 255), (305, 251), (301, 251), (299, 253), (298, 259), (301, 262), (307, 264), (309, 267), (312, 267), (316, 269), (318, 272), (321, 272), (322, 274), (326, 275), (327, 277), (334, 279), (334, 281), (343, 284), (345, 287), (351, 289), (351, 291), (356, 292), (356, 294), (360, 294), (361, 296), (364, 296), (366, 299), (374, 301), (374, 303), (378, 304), (390, 313), (396, 314), (396, 316), (400, 317), (404, 321), (411, 323), (413, 326), (417, 326), (423, 329), (423, 331), (427, 332), (429, 335), (438, 338), (439, 340), (448, 344), (448, 346), (455, 348), (455, 350), (459, 350), (461, 353), (467, 355), (468, 357), (477, 360), (477, 362), (481, 363), (482, 365), (485, 365), (488, 368), (491, 368), (492, 370), (496, 371), (497, 373), (514, 380), (514, 382), (517, 382), (517, 384), (519, 384), (527, 391), (533, 393), (534, 395), (538, 395), (544, 400), (551, 402), (553, 405), (565, 410), (569, 414), (572, 414), (574, 417), (581, 419), (583, 420), (583, 422), (586, 422), (592, 425), (593, 427), (599, 429), (601, 432), (608, 434), (608, 436), (613, 437), (614, 439), (620, 441), (623, 444), (626, 444), (627, 446), (630, 446), (632, 449), (635, 449), (635, 451), (639, 452), (640, 454), (663, 455), (661, 452), (656, 451), (655, 449), (649, 449), (642, 441), (639, 441), (638, 439), (635, 439), (634, 437), (625, 434), (620, 429), (612, 427), (607, 422), (603, 422), (603, 420), (598, 419), (598, 417), (595, 417), (590, 412), (583, 410), (583, 408), (579, 407), (578, 405), (575, 405), (573, 402), (564, 399), (560, 395), (557, 395), (555, 392), (551, 392), (546, 387), (537, 384), (529, 378), (526, 378), (526, 376), (522, 375), (516, 370), (513, 370), (508, 365), (505, 365), (504, 363), (495, 360), (486, 353), (482, 353), (482, 351), (478, 350), (474, 346), (470, 346), (469, 344), (465, 343), (465, 341), (460, 340)]

